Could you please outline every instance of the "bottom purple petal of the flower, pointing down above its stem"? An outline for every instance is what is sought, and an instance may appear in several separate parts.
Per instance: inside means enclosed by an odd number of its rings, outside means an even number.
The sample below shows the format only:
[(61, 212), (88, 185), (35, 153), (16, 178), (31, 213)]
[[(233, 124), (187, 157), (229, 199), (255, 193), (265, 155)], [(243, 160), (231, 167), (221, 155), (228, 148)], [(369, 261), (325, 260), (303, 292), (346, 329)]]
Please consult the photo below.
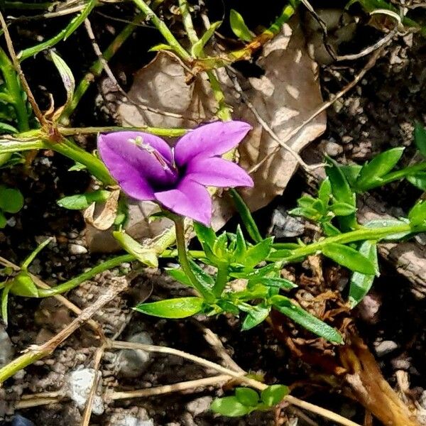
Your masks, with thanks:
[(212, 198), (207, 189), (183, 178), (175, 190), (155, 192), (155, 198), (168, 209), (209, 226), (212, 221)]

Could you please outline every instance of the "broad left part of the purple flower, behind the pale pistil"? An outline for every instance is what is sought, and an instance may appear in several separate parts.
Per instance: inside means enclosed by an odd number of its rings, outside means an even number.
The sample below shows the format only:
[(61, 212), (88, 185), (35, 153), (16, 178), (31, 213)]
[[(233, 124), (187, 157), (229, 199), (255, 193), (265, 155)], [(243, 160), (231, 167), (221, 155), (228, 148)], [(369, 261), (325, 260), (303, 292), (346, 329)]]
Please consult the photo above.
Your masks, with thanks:
[(129, 141), (137, 136), (150, 145), (152, 143), (155, 150), (160, 148), (158, 153), (165, 153), (164, 160), (172, 158), (170, 147), (162, 139), (148, 133), (129, 131), (99, 135), (99, 155), (126, 194), (136, 200), (153, 200), (153, 186), (168, 185), (175, 180), (175, 175), (165, 170), (153, 153)]

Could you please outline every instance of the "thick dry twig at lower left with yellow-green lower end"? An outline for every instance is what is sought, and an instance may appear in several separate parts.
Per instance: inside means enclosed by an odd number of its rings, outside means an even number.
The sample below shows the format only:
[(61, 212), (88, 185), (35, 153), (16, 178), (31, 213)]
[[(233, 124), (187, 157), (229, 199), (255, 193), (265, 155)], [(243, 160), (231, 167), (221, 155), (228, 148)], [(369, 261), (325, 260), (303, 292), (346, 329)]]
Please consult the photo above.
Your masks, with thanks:
[(48, 340), (48, 342), (45, 342), (45, 344), (42, 344), (41, 346), (30, 346), (25, 354), (18, 356), (18, 358), (14, 359), (3, 368), (0, 368), (0, 384), (3, 383), (7, 378), (13, 376), (13, 374), (17, 373), (23, 368), (26, 368), (26, 366), (29, 366), (35, 361), (52, 354), (59, 344), (70, 337), (70, 335), (75, 332), (75, 330), (84, 324), (84, 322), (92, 318), (92, 316), (95, 315), (111, 299), (125, 290), (127, 285), (127, 281), (124, 280), (121, 280), (121, 282), (117, 282), (116, 280), (115, 285), (112, 285), (111, 283), (111, 286), (103, 295), (101, 295), (92, 305), (82, 310), (82, 313), (77, 318), (75, 318), (75, 320), (72, 320), (72, 322), (70, 322), (70, 324), (68, 324), (65, 329), (62, 329), (52, 339)]

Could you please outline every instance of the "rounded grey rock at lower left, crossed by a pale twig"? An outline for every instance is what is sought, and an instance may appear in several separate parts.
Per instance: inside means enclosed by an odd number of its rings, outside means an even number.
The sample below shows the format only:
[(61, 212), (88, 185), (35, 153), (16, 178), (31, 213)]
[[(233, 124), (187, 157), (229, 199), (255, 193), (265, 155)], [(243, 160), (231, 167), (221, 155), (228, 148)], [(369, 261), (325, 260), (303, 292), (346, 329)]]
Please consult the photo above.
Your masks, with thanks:
[[(153, 339), (147, 332), (133, 334), (128, 342), (153, 344)], [(141, 349), (121, 349), (117, 356), (117, 364), (121, 376), (135, 378), (141, 376), (151, 362), (151, 355)]]

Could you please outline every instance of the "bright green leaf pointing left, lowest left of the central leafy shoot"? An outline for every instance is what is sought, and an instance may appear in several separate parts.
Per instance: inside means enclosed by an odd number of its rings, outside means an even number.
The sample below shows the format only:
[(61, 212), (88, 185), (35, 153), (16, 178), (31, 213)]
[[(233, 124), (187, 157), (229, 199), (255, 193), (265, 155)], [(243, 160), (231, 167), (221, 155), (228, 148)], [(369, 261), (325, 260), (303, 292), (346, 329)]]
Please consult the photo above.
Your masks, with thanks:
[(162, 318), (186, 318), (201, 312), (204, 300), (201, 297), (178, 297), (160, 302), (140, 303), (134, 310)]

